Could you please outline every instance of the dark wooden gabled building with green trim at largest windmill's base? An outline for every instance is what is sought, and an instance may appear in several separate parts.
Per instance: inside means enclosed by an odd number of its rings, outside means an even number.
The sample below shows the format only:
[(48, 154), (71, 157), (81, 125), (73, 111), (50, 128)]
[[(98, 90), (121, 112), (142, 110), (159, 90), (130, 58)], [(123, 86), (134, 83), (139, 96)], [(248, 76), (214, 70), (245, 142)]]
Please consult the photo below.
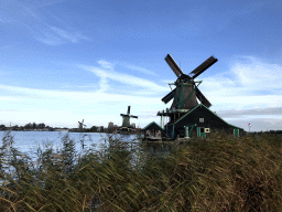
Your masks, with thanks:
[(234, 134), (235, 137), (243, 134), (242, 128), (226, 123), (203, 104), (164, 126), (165, 134), (172, 139), (188, 138), (191, 136), (206, 138), (209, 134), (218, 130)]

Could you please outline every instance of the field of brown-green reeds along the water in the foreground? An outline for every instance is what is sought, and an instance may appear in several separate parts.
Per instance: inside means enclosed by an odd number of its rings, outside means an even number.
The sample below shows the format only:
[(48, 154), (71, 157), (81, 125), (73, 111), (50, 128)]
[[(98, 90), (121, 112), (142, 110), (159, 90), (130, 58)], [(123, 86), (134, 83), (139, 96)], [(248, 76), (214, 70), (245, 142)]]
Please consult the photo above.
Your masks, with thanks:
[(65, 136), (59, 153), (39, 151), (35, 166), (12, 148), (8, 131), (0, 211), (282, 211), (281, 136), (215, 134), (171, 145), (169, 153), (105, 139), (107, 148), (78, 156)]

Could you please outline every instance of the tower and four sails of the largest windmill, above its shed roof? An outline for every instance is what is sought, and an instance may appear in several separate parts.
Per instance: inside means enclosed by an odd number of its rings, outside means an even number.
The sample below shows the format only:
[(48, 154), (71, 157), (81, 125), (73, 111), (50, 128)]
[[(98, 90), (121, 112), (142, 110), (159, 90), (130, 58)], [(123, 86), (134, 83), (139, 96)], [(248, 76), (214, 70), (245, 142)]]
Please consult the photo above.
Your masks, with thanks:
[(167, 104), (174, 98), (171, 110), (191, 110), (198, 105), (197, 98), (203, 105), (210, 107), (212, 104), (197, 87), (202, 82), (195, 82), (194, 80), (218, 60), (214, 56), (208, 57), (204, 63), (189, 73), (192, 76), (184, 74), (170, 54), (166, 55), (165, 61), (177, 76), (177, 80), (173, 83), (176, 88), (164, 96), (162, 102)]

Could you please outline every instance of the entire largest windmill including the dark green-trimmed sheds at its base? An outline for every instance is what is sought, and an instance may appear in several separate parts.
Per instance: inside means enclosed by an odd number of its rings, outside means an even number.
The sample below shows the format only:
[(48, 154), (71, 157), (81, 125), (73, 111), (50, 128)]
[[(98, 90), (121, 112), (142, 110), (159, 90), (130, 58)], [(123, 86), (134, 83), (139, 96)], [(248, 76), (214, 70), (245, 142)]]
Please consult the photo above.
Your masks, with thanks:
[[(143, 128), (144, 140), (155, 140), (161, 131), (162, 140), (182, 140), (191, 137), (206, 138), (210, 131), (224, 130), (238, 137), (243, 132), (242, 128), (236, 127), (221, 119), (214, 112), (209, 110), (212, 104), (198, 89), (202, 81), (195, 81), (203, 72), (215, 64), (218, 60), (208, 57), (188, 75), (178, 67), (170, 54), (165, 57), (166, 63), (177, 76), (173, 84), (176, 87), (162, 98), (167, 104), (173, 99), (171, 108), (158, 112), (161, 116), (161, 125), (152, 121)], [(198, 104), (197, 99), (200, 102)]]

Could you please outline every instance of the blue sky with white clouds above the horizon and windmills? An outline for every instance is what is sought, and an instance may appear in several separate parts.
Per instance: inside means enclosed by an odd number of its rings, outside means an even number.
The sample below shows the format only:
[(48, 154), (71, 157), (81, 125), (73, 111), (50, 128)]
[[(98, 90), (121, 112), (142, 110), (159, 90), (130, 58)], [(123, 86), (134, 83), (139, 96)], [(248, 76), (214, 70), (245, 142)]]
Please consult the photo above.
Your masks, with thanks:
[[(0, 0), (0, 125), (160, 123), (175, 74), (196, 80), (227, 123), (282, 129), (282, 1)], [(248, 124), (251, 127), (248, 127)]]

